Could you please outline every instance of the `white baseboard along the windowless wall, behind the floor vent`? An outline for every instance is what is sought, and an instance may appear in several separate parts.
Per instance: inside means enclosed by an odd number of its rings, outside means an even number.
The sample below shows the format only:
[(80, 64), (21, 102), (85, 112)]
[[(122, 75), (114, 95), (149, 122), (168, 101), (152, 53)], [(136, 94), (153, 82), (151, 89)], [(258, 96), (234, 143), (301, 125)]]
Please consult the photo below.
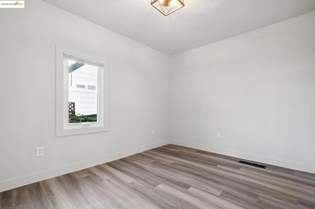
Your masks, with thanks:
[(315, 165), (305, 164), (301, 162), (295, 162), (280, 158), (274, 158), (274, 157), (268, 157), (268, 156), (260, 156), (255, 155), (252, 153), (243, 153), (236, 150), (227, 150), (217, 147), (211, 147), (211, 146), (205, 146), (202, 144), (196, 144), (191, 142), (184, 142), (184, 141), (170, 141), (171, 144), (180, 145), (184, 147), (194, 148), (198, 150), (203, 150), (207, 152), (217, 153), (221, 155), (226, 155), (230, 157), (237, 157), (247, 160), (252, 160), (256, 162), (261, 162), (269, 165), (276, 165), (284, 168), (294, 169), (298, 171), (304, 171), (308, 173), (314, 173), (315, 174)]

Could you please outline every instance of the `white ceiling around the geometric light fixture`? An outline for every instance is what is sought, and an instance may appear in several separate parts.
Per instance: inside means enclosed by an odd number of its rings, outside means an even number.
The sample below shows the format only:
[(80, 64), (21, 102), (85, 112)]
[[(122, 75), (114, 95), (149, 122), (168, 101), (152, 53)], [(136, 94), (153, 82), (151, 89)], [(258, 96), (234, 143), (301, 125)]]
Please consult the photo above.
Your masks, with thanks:
[(167, 54), (185, 52), (315, 10), (315, 0), (185, 0), (164, 17), (150, 0), (44, 0)]

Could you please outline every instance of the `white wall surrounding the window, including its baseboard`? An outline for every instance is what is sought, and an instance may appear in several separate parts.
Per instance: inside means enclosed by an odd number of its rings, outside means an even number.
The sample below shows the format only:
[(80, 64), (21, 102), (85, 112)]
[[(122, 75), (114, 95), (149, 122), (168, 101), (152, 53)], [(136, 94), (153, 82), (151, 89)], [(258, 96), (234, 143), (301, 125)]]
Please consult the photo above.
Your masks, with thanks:
[[(55, 137), (56, 44), (109, 59), (108, 132)], [(0, 192), (167, 144), (168, 59), (40, 0), (1, 9)]]

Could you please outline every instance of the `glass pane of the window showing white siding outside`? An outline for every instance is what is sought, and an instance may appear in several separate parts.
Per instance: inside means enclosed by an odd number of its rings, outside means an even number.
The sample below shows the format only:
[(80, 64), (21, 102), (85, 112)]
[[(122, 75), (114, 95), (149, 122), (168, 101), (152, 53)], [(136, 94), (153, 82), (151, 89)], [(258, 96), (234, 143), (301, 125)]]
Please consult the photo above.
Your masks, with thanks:
[[(69, 72), (69, 123), (97, 122), (98, 64), (74, 57), (64, 58)], [(94, 91), (89, 86), (94, 86)]]

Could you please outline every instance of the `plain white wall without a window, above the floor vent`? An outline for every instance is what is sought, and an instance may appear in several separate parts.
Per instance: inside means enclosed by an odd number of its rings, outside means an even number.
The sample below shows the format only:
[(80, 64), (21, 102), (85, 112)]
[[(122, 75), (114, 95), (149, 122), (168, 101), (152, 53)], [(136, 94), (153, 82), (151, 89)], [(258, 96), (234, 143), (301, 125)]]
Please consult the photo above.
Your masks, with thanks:
[(315, 11), (170, 67), (173, 143), (315, 173)]

